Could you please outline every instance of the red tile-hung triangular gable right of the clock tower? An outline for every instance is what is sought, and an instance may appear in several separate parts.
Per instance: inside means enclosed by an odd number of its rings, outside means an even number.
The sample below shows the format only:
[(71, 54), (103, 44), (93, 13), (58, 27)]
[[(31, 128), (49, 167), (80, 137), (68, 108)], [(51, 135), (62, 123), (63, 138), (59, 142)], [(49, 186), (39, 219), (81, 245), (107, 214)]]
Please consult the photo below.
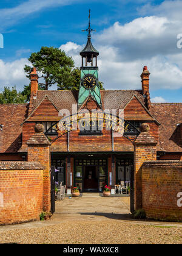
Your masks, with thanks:
[(133, 96), (129, 103), (124, 108), (124, 119), (126, 120), (144, 120), (152, 121), (154, 118), (147, 112), (143, 104)]

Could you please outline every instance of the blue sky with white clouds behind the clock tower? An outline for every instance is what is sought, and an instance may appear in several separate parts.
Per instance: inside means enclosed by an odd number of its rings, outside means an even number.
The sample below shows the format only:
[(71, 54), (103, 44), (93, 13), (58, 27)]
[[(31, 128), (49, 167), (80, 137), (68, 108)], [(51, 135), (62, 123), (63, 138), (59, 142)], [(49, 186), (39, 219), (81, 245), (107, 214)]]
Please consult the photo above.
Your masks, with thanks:
[[(81, 65), (79, 51), (87, 40), (88, 10), (99, 51), (99, 80), (113, 89), (140, 89), (143, 66), (150, 71), (155, 102), (181, 102), (182, 1), (145, 0), (4, 0), (0, 9), (0, 91), (16, 84), (22, 90), (23, 67), (31, 52), (55, 46)], [(182, 37), (182, 36), (181, 36)], [(181, 43), (182, 45), (182, 43)]]

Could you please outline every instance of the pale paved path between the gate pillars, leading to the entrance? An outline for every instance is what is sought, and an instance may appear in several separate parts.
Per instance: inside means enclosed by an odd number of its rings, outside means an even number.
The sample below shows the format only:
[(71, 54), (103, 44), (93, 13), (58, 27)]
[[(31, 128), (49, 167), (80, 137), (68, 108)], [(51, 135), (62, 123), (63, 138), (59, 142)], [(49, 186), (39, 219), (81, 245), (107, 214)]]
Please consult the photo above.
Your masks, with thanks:
[(129, 204), (129, 196), (103, 197), (98, 193), (83, 193), (81, 197), (72, 197), (71, 199), (66, 197), (64, 201), (57, 201), (53, 219), (57, 220), (61, 216), (64, 221), (130, 218)]

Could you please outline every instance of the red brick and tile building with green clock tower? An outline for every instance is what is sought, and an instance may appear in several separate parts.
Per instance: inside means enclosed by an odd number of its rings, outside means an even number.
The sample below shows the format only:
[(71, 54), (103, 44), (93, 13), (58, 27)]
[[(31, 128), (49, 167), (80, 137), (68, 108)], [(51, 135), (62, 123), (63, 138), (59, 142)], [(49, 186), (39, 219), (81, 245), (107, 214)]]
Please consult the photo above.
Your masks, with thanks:
[[(81, 191), (101, 191), (105, 184), (130, 180), (133, 170), (133, 141), (142, 123), (150, 126), (150, 135), (157, 141), (158, 160), (182, 160), (182, 103), (152, 104), (147, 66), (141, 74), (138, 90), (100, 90), (97, 57), (89, 30), (82, 57), (79, 91), (39, 91), (36, 69), (31, 77), (29, 104), (0, 105), (0, 160), (27, 160), (27, 141), (35, 133), (35, 124), (44, 125), (52, 141), (50, 155), (56, 168), (56, 180)], [(84, 59), (86, 60), (84, 65)], [(95, 60), (95, 63), (93, 61)], [(89, 65), (89, 63), (91, 65)], [(60, 110), (72, 113), (73, 105), (80, 112), (91, 110), (124, 110), (127, 129), (118, 136), (113, 129), (99, 129), (98, 120), (84, 129), (60, 135)], [(91, 127), (91, 128), (90, 128)], [(45, 160), (46, 161), (46, 160)], [(112, 174), (112, 175), (110, 175)]]

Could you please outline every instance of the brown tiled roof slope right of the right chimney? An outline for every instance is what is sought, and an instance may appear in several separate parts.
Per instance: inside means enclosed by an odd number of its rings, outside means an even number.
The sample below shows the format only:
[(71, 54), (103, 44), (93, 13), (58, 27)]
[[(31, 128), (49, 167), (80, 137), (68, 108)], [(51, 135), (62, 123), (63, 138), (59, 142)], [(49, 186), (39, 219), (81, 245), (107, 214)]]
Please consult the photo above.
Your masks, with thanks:
[(152, 115), (160, 121), (160, 147), (167, 152), (182, 152), (180, 130), (182, 123), (182, 103), (155, 103), (151, 107)]

